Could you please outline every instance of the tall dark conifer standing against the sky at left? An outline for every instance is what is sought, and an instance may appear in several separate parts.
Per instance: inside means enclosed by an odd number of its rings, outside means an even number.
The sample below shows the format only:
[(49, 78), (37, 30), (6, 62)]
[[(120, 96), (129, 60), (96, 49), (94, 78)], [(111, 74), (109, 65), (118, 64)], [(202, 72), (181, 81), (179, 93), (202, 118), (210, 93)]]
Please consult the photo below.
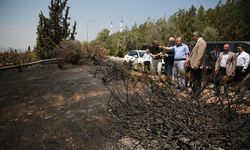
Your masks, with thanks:
[(54, 57), (54, 48), (63, 40), (75, 39), (76, 22), (70, 30), (68, 0), (51, 0), (49, 16), (39, 14), (35, 51), (41, 59)]

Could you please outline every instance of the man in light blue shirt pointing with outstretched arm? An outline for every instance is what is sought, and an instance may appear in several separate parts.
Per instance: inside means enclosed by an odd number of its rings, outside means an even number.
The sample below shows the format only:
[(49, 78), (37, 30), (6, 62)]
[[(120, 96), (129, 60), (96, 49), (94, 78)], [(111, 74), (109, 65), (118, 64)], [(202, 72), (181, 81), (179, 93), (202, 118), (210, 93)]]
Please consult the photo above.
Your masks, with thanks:
[(174, 66), (172, 79), (177, 81), (177, 87), (185, 85), (185, 68), (184, 64), (189, 54), (189, 48), (186, 44), (182, 43), (180, 37), (176, 39), (176, 45), (173, 47), (163, 47), (166, 51), (173, 51), (174, 55)]

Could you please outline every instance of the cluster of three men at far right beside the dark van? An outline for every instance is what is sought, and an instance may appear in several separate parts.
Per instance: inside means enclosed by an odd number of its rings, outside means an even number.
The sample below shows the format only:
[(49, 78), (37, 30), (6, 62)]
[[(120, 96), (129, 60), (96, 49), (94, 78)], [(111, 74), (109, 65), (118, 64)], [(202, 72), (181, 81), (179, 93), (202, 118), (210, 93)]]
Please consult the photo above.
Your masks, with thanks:
[[(217, 47), (210, 52), (211, 57), (215, 57), (215, 94), (220, 95), (220, 86), (224, 84), (224, 96), (228, 95), (229, 83), (242, 81), (247, 73), (250, 57), (245, 52), (242, 44), (237, 46), (237, 53), (230, 51), (230, 45), (224, 44), (223, 51), (220, 52)], [(239, 89), (238, 89), (239, 90)], [(239, 92), (239, 91), (236, 91)]]

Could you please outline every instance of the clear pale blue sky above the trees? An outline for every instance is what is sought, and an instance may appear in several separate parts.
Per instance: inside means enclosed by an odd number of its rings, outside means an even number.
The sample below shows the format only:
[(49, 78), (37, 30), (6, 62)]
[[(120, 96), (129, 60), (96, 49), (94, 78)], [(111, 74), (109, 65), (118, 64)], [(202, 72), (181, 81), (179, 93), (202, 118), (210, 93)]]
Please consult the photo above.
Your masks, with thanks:
[[(121, 20), (129, 28), (142, 24), (150, 17), (152, 21), (169, 17), (179, 9), (214, 8), (219, 0), (68, 0), (70, 17), (77, 22), (76, 39), (95, 39), (98, 32), (110, 28), (120, 29)], [(36, 44), (38, 14), (48, 15), (50, 0), (0, 0), (0, 50), (27, 49)]]

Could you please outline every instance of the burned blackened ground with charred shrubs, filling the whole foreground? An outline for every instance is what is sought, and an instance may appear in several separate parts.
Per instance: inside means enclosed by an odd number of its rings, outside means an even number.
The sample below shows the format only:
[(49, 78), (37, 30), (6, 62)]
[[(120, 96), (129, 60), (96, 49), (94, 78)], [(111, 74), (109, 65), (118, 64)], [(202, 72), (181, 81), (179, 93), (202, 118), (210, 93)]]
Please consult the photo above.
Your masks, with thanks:
[[(191, 99), (122, 63), (0, 74), (0, 149), (249, 147), (249, 92)], [(246, 94), (246, 95), (245, 95)]]

